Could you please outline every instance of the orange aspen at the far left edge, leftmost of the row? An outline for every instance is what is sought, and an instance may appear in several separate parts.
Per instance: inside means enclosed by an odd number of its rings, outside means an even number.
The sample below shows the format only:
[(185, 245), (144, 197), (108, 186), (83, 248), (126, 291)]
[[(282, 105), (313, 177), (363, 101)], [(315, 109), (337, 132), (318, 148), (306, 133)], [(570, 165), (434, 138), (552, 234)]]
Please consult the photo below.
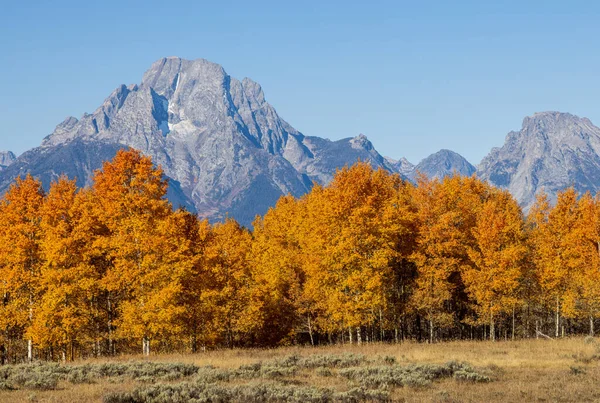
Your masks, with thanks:
[[(27, 334), (39, 300), (42, 257), (41, 183), (31, 175), (17, 178), (0, 204), (0, 327), (3, 342), (11, 334)], [(27, 359), (33, 359), (33, 340), (27, 337)]]

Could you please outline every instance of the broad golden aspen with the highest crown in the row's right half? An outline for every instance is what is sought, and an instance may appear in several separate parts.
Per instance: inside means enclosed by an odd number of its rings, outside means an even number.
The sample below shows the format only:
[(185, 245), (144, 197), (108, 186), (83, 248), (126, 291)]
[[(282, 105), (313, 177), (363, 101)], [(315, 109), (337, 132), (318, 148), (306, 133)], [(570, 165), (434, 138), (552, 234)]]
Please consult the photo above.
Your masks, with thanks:
[(392, 284), (391, 260), (395, 239), (384, 221), (386, 203), (400, 178), (367, 163), (338, 171), (319, 198), (319, 239), (312, 242), (318, 256), (307, 272), (307, 290), (328, 321), (329, 328), (348, 329), (350, 341), (362, 341), (361, 328), (386, 309), (386, 289)]

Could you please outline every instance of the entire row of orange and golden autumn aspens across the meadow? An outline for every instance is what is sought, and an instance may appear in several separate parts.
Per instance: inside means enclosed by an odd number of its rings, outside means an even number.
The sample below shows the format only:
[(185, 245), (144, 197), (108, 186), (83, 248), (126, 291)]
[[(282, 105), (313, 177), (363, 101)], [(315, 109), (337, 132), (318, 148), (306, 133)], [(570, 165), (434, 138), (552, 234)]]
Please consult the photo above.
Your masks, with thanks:
[(0, 358), (594, 333), (600, 198), (524, 217), (475, 177), (416, 184), (357, 163), (253, 230), (174, 211), (120, 151), (78, 189), (19, 178), (0, 202)]

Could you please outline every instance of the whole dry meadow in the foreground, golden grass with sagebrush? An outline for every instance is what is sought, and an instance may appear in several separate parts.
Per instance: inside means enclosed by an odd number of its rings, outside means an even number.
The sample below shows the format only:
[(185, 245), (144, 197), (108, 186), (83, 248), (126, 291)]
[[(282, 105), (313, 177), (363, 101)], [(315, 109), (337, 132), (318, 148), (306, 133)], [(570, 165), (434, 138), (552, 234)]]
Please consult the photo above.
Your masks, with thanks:
[[(146, 367), (155, 363), (152, 367), (154, 372), (148, 372), (149, 375), (144, 372), (147, 371), (144, 364), (140, 364), (140, 368), (146, 369), (135, 375), (126, 373), (103, 377), (94, 370), (85, 378), (81, 375), (83, 372), (78, 372), (62, 376), (52, 390), (40, 390), (44, 388), (24, 384), (5, 386), (5, 390), (1, 390), (0, 377), (0, 401), (137, 402), (144, 396), (150, 396), (145, 390), (156, 388), (156, 385), (177, 387), (185, 383), (189, 388), (205, 381), (217, 388), (206, 391), (207, 394), (203, 395), (205, 401), (206, 396), (213, 396), (211, 401), (256, 402), (600, 401), (600, 342), (590, 338), (222, 350), (196, 355), (156, 355), (149, 361), (151, 363), (146, 363)], [(123, 356), (68, 365), (89, 369), (102, 364), (121, 364), (125, 368), (134, 365), (132, 362), (143, 363), (144, 359), (141, 356)], [(456, 369), (453, 365), (457, 364), (448, 366), (448, 362), (468, 363), (470, 369)], [(189, 364), (185, 368), (195, 368), (198, 372), (179, 379), (157, 372), (156, 368), (161, 365), (166, 365), (169, 370), (168, 365), (172, 363)], [(455, 369), (447, 369), (451, 367)], [(34, 371), (35, 368), (22, 370)], [(434, 373), (437, 375), (432, 375)], [(380, 376), (383, 378), (377, 378)], [(394, 380), (394, 377), (402, 379)], [(235, 389), (237, 394), (223, 394), (222, 388)], [(130, 392), (135, 389), (141, 392), (132, 395)], [(329, 394), (323, 392), (319, 398), (322, 391)], [(186, 401), (186, 395), (181, 393), (155, 393), (152, 396), (154, 400), (149, 401)]]

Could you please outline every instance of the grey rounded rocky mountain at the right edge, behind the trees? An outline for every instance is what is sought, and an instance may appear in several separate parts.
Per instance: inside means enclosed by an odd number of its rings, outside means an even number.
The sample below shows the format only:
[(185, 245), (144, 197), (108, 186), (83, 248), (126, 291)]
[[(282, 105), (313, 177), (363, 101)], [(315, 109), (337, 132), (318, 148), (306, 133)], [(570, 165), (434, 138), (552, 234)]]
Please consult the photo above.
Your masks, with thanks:
[(520, 131), (510, 132), (478, 166), (478, 175), (508, 189), (528, 210), (544, 189), (556, 192), (575, 186), (580, 192), (600, 190), (600, 128), (587, 118), (543, 112), (526, 117)]

